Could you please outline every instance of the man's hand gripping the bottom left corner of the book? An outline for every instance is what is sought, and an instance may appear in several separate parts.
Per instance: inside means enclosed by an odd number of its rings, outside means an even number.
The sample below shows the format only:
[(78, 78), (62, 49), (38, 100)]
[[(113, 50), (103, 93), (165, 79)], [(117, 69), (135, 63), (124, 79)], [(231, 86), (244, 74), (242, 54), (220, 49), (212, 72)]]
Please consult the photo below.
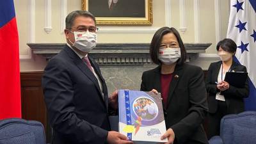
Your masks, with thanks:
[(127, 136), (120, 134), (116, 131), (109, 131), (107, 141), (109, 144), (132, 144), (132, 141), (129, 141)]

